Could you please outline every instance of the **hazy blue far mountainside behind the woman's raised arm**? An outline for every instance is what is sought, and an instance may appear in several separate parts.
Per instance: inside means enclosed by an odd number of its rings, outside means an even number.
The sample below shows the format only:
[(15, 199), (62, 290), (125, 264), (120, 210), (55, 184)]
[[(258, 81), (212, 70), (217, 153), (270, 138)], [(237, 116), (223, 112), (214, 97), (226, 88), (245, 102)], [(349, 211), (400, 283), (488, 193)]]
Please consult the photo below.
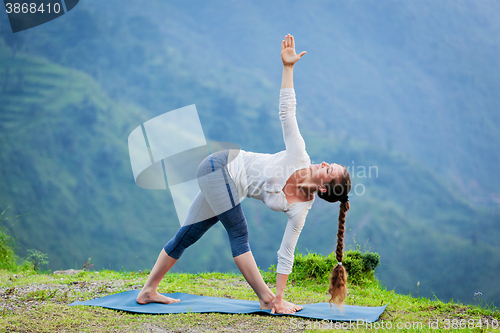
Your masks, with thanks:
[[(214, 123), (235, 142), (242, 114), (269, 119), (279, 42), (291, 32), (308, 51), (296, 71), (302, 128), (403, 152), (470, 201), (498, 209), (499, 14), (498, 2), (472, 0), (81, 1), (9, 41), (155, 114), (196, 103), (220, 115)], [(251, 109), (235, 116), (243, 102)], [(274, 151), (281, 143), (267, 142), (248, 144)]]

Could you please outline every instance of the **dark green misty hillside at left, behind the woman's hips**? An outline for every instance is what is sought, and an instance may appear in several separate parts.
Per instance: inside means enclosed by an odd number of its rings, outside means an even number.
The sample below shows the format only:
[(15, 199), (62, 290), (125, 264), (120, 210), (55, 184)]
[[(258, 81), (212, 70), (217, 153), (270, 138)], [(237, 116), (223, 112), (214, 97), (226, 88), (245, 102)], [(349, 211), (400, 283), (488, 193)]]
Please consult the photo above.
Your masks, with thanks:
[[(84, 73), (0, 51), (0, 207), (23, 215), (3, 222), (21, 255), (47, 253), (52, 269), (89, 257), (100, 267), (150, 267), (179, 222), (168, 191), (134, 183), (127, 137), (148, 120), (144, 110), (113, 102)], [(200, 243), (216, 249), (219, 239)], [(222, 269), (217, 260), (200, 267)]]

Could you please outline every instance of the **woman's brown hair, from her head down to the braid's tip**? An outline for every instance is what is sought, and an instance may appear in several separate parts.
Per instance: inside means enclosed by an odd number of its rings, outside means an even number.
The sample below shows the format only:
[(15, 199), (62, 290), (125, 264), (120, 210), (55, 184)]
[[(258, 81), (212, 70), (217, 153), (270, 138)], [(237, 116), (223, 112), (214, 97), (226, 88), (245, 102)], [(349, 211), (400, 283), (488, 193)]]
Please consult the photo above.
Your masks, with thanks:
[(335, 257), (338, 264), (333, 268), (330, 277), (330, 287), (328, 293), (331, 298), (330, 304), (333, 302), (339, 309), (341, 308), (347, 294), (347, 272), (342, 266), (342, 257), (344, 252), (344, 232), (345, 232), (345, 216), (350, 208), (348, 193), (351, 190), (351, 177), (349, 172), (344, 167), (344, 172), (339, 183), (326, 184), (326, 192), (318, 192), (318, 196), (328, 202), (340, 201), (339, 210), (339, 226), (337, 232), (337, 248), (335, 249)]

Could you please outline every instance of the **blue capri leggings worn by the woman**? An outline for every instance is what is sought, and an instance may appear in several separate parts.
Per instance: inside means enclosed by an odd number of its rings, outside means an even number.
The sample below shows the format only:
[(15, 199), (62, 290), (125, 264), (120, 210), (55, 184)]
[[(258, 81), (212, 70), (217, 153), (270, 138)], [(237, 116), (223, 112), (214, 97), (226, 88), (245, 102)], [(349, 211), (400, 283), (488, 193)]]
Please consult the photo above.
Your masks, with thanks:
[(247, 221), (236, 187), (226, 169), (228, 155), (227, 150), (211, 154), (198, 167), (198, 185), (201, 191), (191, 205), (187, 219), (196, 215), (199, 207), (207, 204), (213, 214), (200, 222), (182, 226), (164, 247), (170, 257), (179, 259), (186, 248), (218, 221), (222, 222), (227, 231), (233, 257), (250, 251)]

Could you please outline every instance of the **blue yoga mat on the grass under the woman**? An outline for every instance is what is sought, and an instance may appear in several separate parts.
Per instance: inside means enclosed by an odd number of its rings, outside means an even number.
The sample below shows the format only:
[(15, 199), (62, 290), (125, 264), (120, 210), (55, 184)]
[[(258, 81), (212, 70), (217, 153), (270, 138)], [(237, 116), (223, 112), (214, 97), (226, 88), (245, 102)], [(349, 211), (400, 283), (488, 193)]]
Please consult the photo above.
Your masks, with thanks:
[[(171, 298), (178, 298), (179, 303), (159, 304), (150, 303), (141, 305), (136, 302), (139, 290), (130, 290), (123, 293), (109, 295), (88, 301), (77, 301), (72, 305), (93, 305), (108, 309), (122, 310), (135, 313), (166, 314), (166, 313), (267, 313), (271, 310), (260, 309), (258, 301), (244, 301), (239, 299), (229, 299), (210, 296), (197, 296), (184, 293), (163, 294)], [(302, 318), (336, 320), (336, 321), (357, 321), (363, 320), (369, 323), (377, 321), (384, 312), (388, 304), (379, 307), (345, 305), (343, 313), (335, 306), (330, 307), (329, 303), (315, 303), (302, 305), (304, 308), (294, 315)], [(281, 314), (274, 314), (282, 316)], [(290, 315), (288, 315), (290, 316)]]

